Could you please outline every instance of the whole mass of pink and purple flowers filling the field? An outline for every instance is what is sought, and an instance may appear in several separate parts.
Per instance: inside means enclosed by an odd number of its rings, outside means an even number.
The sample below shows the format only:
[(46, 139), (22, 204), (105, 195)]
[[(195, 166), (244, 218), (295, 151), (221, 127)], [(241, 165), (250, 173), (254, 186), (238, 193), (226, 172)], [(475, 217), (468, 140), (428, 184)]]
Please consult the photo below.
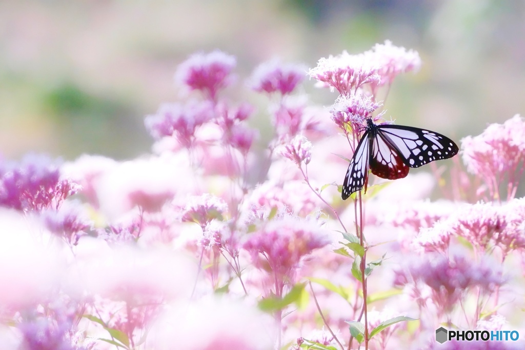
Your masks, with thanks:
[[(347, 141), (338, 128), (357, 140), (364, 119), (383, 115), (380, 88), (420, 64), (390, 42), (321, 59), (309, 75), (340, 94), (323, 110), (300, 93), (306, 69), (273, 60), (241, 86), (271, 95), (258, 110), (230, 100), (235, 57), (196, 54), (176, 72), (193, 96), (145, 117), (151, 155), (0, 162), (0, 344), (434, 348), (443, 322), (522, 326), (509, 317), (523, 294), (520, 117), (464, 139), (484, 201), (439, 178), (455, 201), (431, 202), (426, 173), (350, 205), (334, 186), (348, 167), (332, 154)], [(250, 118), (261, 116), (258, 139)], [(415, 330), (394, 322), (403, 314), (420, 319)]]

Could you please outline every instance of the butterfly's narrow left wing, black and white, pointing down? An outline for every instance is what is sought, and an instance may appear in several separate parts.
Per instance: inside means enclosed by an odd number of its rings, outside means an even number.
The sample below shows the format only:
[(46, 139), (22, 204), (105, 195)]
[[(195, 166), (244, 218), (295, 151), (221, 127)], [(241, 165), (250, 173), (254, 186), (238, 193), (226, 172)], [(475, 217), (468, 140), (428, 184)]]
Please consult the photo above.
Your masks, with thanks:
[(341, 191), (341, 198), (345, 200), (350, 197), (350, 194), (363, 189), (366, 192), (368, 184), (368, 161), (370, 153), (370, 132), (366, 131), (359, 141), (358, 147), (355, 148), (354, 156), (346, 171), (344, 177), (343, 190)]

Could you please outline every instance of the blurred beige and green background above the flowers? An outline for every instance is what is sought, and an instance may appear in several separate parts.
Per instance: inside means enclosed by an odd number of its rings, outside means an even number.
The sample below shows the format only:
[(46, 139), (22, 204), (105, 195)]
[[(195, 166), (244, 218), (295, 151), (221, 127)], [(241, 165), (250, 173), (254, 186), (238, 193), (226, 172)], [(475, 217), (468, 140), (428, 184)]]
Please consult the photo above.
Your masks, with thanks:
[[(423, 60), (390, 90), (397, 123), (459, 141), (525, 114), (523, 1), (3, 0), (0, 155), (148, 152), (143, 118), (181, 99), (174, 71), (194, 52), (235, 55), (243, 84), (270, 58), (314, 67), (385, 39)], [(323, 106), (337, 97), (313, 81), (304, 90)]]

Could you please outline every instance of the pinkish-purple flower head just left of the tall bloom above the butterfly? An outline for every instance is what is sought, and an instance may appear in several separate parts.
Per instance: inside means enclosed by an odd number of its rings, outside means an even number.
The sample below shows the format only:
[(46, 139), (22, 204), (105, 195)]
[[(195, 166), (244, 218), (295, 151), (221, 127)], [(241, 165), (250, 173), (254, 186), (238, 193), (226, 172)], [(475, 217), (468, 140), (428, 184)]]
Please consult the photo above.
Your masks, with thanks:
[(281, 95), (290, 94), (304, 79), (306, 66), (282, 64), (278, 60), (271, 60), (259, 65), (251, 76), (251, 87), (258, 92), (280, 92)]

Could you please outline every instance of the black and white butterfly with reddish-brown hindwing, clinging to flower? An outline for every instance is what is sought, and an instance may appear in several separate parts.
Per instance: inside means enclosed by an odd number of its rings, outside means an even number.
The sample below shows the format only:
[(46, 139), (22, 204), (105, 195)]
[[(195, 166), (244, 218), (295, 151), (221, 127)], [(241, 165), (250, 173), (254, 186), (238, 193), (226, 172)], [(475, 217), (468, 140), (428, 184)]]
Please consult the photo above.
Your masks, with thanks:
[(383, 179), (402, 179), (407, 176), (408, 168), (452, 158), (458, 151), (454, 141), (435, 131), (402, 125), (376, 125), (369, 117), (346, 171), (341, 197), (345, 200), (363, 187), (366, 193), (369, 169)]

